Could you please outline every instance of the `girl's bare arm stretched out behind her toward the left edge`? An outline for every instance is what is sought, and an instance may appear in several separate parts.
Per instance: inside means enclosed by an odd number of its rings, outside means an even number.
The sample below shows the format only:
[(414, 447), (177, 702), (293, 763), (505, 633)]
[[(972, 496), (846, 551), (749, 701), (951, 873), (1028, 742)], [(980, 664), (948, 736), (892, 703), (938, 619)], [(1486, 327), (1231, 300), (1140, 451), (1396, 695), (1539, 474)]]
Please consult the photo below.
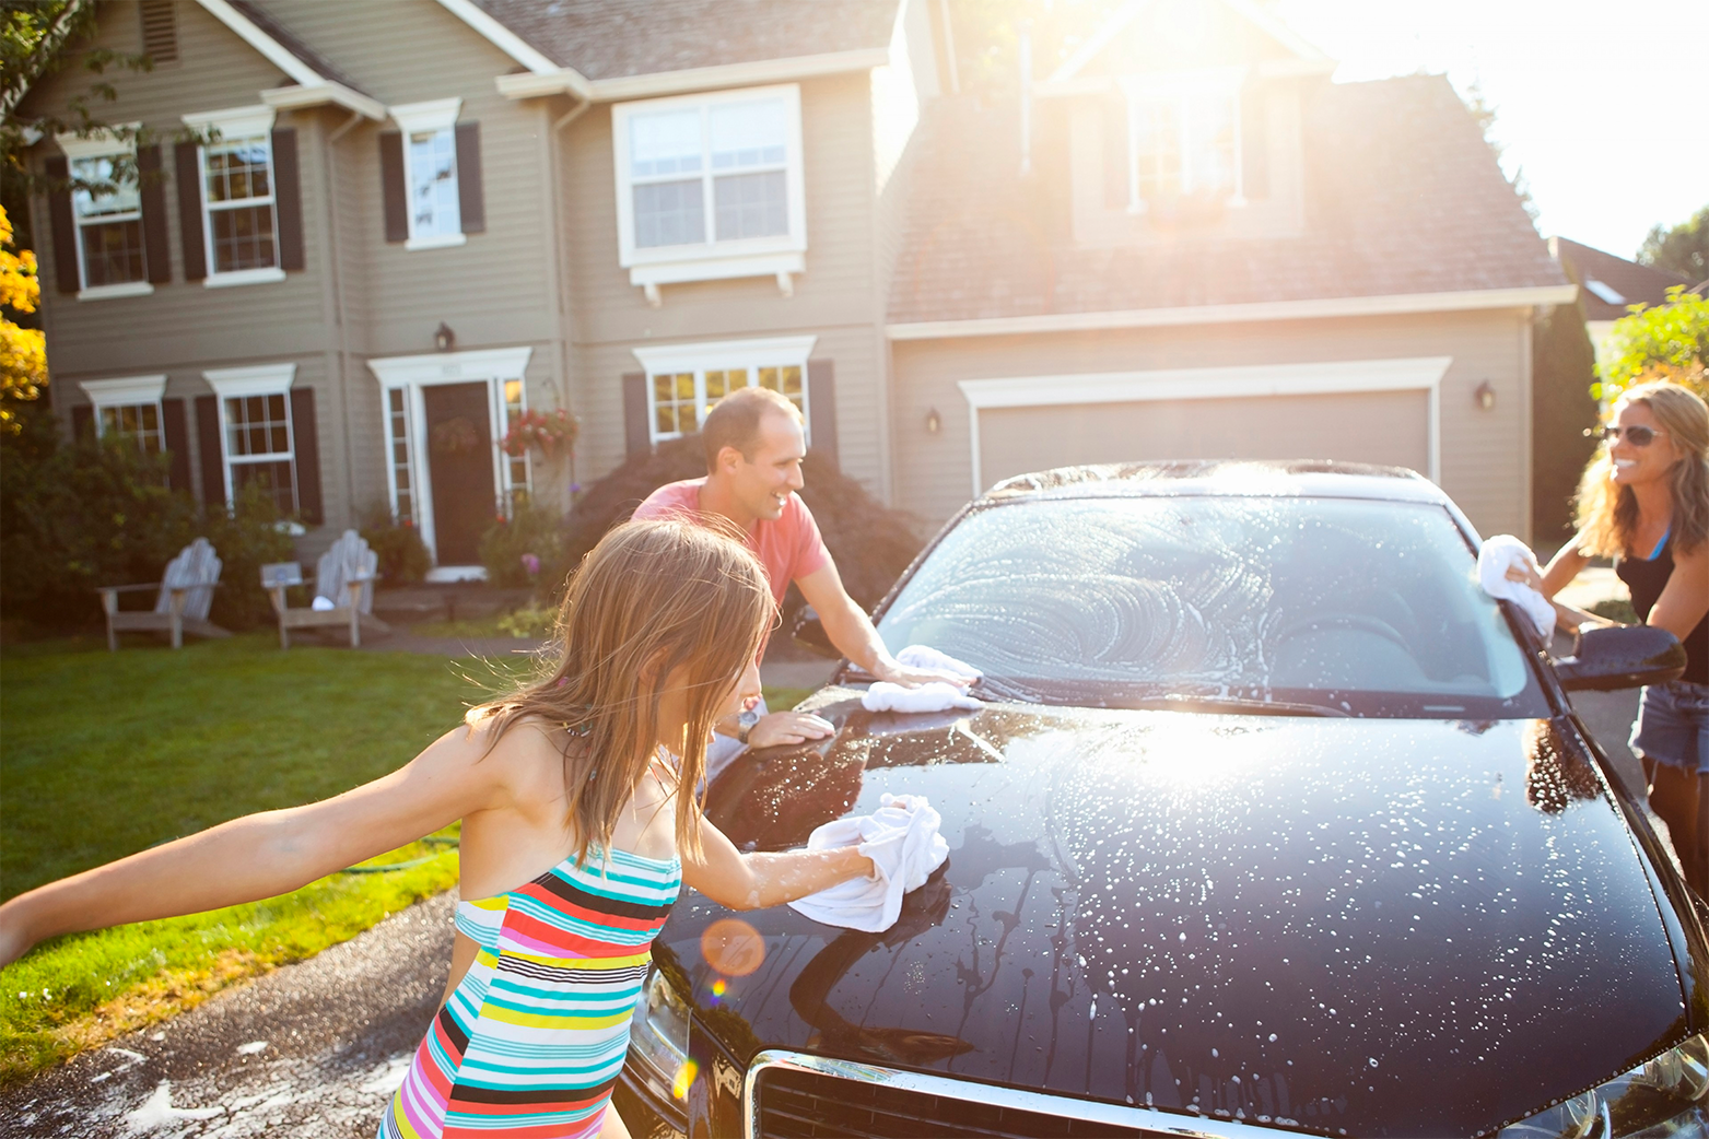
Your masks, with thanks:
[[(405, 767), (333, 799), (234, 818), (0, 905), (0, 967), (58, 934), (256, 902), (506, 799), (506, 763), (456, 727)], [(499, 756), (494, 755), (494, 760)]]

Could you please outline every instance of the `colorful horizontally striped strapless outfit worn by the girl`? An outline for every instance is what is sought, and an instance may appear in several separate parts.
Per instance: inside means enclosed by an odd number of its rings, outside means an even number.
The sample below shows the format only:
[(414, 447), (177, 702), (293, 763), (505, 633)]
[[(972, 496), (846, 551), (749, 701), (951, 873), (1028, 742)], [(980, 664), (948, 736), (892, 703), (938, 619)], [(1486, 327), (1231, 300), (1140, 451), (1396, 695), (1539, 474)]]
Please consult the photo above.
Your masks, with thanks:
[[(602, 873), (603, 871), (603, 873)], [(461, 902), (480, 955), (415, 1050), (379, 1139), (591, 1139), (682, 864), (588, 854)]]

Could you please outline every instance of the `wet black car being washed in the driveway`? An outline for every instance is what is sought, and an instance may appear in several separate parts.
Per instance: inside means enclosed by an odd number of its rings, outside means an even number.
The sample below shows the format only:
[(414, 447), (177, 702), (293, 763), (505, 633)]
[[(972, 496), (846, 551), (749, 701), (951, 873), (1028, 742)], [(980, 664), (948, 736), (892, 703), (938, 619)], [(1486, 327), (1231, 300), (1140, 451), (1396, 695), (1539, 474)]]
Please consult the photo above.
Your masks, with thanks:
[[(1694, 897), (1553, 659), (1410, 471), (1001, 483), (877, 615), (978, 712), (870, 714), (708, 789), (738, 847), (925, 794), (948, 862), (882, 934), (687, 895), (617, 1103), (637, 1134), (1612, 1139), (1709, 1134)], [(812, 635), (812, 627), (803, 635)]]

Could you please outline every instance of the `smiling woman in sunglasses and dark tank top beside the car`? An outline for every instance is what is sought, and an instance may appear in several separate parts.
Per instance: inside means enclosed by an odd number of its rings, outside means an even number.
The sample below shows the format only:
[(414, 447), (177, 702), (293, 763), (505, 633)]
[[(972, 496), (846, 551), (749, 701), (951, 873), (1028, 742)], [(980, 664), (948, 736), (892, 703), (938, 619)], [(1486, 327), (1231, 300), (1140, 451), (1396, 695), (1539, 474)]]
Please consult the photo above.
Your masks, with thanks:
[[(1579, 533), (1531, 584), (1553, 598), (1593, 557), (1612, 557), (1639, 620), (1685, 645), (1685, 675), (1644, 688), (1632, 751), (1687, 881), (1709, 897), (1709, 406), (1680, 384), (1629, 388), (1579, 480)], [(1531, 577), (1531, 574), (1526, 574)]]

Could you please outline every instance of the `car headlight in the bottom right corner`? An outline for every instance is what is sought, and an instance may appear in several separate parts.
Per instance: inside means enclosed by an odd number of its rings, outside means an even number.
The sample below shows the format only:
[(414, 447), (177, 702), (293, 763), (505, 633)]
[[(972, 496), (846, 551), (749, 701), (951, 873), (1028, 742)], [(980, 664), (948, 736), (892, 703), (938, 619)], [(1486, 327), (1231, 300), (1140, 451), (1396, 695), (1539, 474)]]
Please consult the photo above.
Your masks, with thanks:
[(1709, 1137), (1709, 1035), (1547, 1112), (1504, 1127), (1499, 1139)]

